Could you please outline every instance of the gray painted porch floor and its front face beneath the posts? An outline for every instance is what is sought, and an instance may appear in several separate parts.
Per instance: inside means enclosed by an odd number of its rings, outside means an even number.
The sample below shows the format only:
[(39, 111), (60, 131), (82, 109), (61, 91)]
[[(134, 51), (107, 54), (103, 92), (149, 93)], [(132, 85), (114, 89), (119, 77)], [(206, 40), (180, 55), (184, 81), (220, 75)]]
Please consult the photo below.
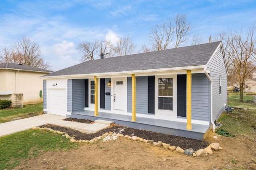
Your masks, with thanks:
[(152, 119), (145, 117), (137, 117), (137, 121), (132, 121), (132, 116), (129, 115), (98, 112), (98, 116), (94, 116), (94, 111), (87, 110), (73, 112), (71, 113), (71, 117), (78, 119), (89, 119), (92, 121), (95, 121), (97, 119), (114, 121), (114, 123), (122, 126), (198, 140), (204, 140), (210, 131), (210, 125), (199, 125), (192, 123), (192, 130), (187, 130), (187, 123), (183, 122)]

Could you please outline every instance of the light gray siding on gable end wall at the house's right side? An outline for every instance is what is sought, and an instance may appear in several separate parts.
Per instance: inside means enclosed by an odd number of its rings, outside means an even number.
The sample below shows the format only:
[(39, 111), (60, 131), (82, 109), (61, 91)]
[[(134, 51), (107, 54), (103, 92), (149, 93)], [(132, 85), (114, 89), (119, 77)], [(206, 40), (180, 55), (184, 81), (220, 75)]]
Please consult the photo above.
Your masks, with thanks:
[[(218, 47), (216, 53), (208, 63), (207, 69), (210, 70), (210, 77), (212, 79), (212, 121), (214, 121), (220, 117), (224, 109), (224, 104), (227, 103), (227, 72), (221, 46)], [(219, 94), (220, 76), (222, 77), (221, 94)]]

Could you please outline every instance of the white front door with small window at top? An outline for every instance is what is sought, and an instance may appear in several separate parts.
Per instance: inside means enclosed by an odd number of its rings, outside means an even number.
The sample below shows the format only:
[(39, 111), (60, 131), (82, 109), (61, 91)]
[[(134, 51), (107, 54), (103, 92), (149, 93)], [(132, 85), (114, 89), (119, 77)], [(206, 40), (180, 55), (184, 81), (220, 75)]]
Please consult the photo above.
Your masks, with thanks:
[(114, 109), (124, 110), (126, 106), (126, 79), (114, 80)]

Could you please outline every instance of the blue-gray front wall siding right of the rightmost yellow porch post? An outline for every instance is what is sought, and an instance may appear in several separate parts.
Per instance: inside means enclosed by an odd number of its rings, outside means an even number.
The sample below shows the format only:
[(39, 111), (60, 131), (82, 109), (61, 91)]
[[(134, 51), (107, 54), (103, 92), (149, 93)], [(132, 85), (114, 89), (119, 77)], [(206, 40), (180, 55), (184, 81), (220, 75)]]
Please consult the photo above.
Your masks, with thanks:
[(210, 81), (204, 73), (192, 74), (192, 119), (209, 121)]

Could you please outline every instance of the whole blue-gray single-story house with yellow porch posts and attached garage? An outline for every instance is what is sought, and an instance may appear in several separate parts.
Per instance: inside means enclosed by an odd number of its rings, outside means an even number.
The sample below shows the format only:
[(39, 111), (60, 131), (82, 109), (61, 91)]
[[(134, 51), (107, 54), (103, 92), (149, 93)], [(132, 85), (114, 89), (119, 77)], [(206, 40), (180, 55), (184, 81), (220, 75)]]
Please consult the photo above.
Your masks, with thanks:
[(44, 112), (203, 140), (227, 101), (222, 42), (86, 61), (41, 76)]

